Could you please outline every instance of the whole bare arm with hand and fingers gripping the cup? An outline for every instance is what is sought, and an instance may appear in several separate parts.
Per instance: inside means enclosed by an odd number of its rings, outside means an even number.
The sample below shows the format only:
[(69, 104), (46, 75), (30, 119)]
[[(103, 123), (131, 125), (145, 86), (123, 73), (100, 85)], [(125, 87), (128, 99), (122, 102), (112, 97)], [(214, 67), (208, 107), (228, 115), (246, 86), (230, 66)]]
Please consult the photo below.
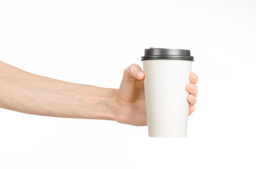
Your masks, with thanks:
[[(186, 89), (191, 114), (197, 102), (198, 77), (190, 73)], [(144, 72), (132, 64), (120, 89), (75, 84), (28, 73), (0, 61), (0, 107), (34, 115), (116, 120), (146, 125)]]

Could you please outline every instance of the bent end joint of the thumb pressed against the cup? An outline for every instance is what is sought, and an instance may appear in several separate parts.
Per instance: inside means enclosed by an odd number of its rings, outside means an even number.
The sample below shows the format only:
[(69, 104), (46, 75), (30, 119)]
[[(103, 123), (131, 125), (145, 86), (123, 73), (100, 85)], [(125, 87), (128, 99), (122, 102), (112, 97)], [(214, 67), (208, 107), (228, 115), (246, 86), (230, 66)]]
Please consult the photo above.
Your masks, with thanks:
[(139, 67), (139, 65), (135, 63), (130, 65), (124, 70), (124, 77), (127, 77), (127, 78), (134, 78), (136, 80), (141, 80), (144, 78), (144, 76), (145, 76), (145, 73), (143, 72), (141, 67)]

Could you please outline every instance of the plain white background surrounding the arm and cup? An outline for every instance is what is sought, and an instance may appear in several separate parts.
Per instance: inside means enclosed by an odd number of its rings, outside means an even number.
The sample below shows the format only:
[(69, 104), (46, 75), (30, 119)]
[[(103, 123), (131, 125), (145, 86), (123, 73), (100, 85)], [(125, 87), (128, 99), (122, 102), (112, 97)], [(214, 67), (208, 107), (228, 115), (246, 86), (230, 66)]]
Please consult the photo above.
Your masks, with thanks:
[(1, 61), (118, 88), (144, 49), (190, 49), (199, 95), (187, 138), (0, 109), (0, 168), (256, 168), (255, 20), (253, 0), (1, 0)]

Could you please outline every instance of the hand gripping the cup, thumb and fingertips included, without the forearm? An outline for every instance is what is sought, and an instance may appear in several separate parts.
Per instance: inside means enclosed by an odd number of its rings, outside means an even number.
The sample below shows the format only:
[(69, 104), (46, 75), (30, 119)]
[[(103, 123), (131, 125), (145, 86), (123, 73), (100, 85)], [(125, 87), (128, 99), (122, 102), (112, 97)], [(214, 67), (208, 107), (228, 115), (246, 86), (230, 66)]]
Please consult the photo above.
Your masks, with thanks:
[[(132, 64), (124, 70), (120, 89), (117, 94), (117, 110), (115, 120), (129, 125), (146, 125), (146, 103), (144, 95), (144, 72), (139, 65)], [(186, 85), (187, 101), (190, 103), (189, 115), (197, 102), (198, 77), (190, 73), (190, 83)]]

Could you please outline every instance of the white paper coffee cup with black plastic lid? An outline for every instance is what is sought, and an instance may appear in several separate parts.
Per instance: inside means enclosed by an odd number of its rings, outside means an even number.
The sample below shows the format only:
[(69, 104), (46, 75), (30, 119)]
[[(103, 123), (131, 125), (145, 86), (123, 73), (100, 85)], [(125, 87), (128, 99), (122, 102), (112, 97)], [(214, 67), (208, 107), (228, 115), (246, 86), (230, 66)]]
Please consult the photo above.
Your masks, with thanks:
[(149, 137), (187, 137), (189, 50), (145, 49), (141, 57)]

